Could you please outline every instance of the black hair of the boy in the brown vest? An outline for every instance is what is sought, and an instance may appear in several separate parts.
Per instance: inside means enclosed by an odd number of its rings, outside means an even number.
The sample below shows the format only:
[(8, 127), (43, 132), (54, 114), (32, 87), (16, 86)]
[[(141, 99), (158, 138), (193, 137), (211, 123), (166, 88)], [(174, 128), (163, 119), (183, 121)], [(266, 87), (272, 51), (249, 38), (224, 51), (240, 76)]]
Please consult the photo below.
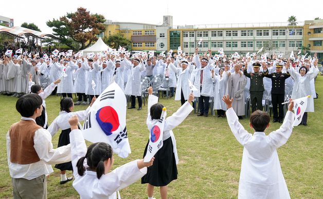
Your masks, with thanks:
[(21, 96), (16, 102), (16, 110), (23, 117), (31, 117), (35, 110), (41, 108), (43, 99), (35, 93)]

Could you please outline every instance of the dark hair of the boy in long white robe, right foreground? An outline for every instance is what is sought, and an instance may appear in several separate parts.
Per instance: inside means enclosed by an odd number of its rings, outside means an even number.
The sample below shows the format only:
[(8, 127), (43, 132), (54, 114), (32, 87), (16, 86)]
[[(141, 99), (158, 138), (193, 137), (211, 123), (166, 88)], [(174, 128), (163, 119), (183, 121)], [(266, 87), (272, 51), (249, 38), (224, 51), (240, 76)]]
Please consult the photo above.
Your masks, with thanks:
[(264, 132), (270, 122), (268, 113), (256, 110), (250, 115), (250, 123), (257, 132)]

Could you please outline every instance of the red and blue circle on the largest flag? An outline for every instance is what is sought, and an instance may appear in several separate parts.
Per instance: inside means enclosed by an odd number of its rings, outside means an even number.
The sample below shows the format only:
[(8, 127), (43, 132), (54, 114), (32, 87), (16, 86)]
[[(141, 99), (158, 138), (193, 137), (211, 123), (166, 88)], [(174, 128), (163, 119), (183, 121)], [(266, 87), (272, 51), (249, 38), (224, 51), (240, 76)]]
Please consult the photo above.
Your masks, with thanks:
[(106, 135), (111, 135), (119, 128), (119, 116), (111, 106), (100, 108), (96, 113), (96, 120)]

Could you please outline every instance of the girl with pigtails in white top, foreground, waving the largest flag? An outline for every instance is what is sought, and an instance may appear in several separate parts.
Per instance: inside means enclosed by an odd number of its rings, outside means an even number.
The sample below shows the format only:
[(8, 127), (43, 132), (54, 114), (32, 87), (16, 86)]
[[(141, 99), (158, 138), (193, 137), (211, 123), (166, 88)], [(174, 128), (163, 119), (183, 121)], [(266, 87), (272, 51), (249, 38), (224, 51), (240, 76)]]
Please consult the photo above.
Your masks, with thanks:
[(95, 143), (86, 148), (82, 131), (78, 129), (78, 117), (69, 119), (71, 160), (75, 181), (73, 187), (81, 198), (120, 198), (119, 190), (135, 183), (147, 173), (154, 158), (145, 163), (132, 161), (110, 172), (113, 163), (113, 150), (109, 144)]

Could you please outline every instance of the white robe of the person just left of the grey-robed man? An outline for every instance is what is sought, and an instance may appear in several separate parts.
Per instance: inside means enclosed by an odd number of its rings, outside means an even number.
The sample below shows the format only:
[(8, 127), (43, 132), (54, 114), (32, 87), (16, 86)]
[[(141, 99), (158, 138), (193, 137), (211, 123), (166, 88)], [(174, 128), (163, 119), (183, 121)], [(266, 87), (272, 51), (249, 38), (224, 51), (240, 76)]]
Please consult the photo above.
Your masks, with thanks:
[(214, 110), (226, 110), (226, 104), (223, 102), (222, 97), (225, 95), (226, 87), (228, 86), (228, 71), (223, 71), (222, 78), (219, 75), (213, 76), (213, 81), (216, 83), (216, 87), (214, 87)]

